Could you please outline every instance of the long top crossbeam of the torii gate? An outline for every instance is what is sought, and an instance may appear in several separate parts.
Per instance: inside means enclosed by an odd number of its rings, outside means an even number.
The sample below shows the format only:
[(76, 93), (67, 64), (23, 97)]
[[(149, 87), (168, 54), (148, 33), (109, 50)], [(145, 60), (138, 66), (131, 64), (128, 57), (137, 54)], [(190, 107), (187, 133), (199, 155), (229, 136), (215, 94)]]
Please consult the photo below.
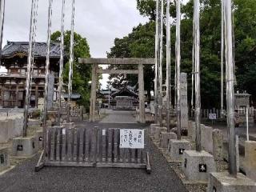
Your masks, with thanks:
[(98, 65), (154, 65), (154, 58), (78, 58), (82, 64)]

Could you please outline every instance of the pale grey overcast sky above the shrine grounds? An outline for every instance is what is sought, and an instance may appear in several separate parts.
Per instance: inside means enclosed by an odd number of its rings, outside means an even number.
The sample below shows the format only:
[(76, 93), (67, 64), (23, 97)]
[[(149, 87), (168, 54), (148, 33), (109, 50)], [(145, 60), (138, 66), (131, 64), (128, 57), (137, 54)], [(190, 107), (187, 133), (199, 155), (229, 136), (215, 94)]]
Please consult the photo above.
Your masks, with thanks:
[[(3, 45), (6, 41), (28, 41), (31, 0), (6, 0)], [(60, 30), (62, 0), (54, 0), (52, 31)], [(74, 30), (86, 37), (93, 58), (106, 58), (114, 38), (129, 34), (147, 22), (136, 9), (136, 0), (76, 0)], [(48, 1), (39, 0), (37, 42), (46, 42)], [(66, 0), (65, 29), (70, 29), (71, 0)], [(102, 84), (106, 82), (106, 75)]]

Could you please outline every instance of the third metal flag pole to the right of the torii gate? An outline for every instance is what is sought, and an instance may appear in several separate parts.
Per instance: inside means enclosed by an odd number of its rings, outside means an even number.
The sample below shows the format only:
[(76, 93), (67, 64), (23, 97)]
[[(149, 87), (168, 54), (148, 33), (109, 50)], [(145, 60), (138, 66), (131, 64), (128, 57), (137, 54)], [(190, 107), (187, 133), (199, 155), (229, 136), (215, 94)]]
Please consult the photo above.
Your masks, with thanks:
[(170, 132), (170, 0), (166, 7), (166, 126)]

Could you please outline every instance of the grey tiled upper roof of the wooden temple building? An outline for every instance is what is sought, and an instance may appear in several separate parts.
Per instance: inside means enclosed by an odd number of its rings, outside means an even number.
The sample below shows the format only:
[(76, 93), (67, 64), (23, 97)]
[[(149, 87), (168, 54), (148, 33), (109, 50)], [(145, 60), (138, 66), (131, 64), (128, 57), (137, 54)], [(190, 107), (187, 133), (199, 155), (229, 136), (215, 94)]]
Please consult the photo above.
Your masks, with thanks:
[[(2, 49), (2, 58), (10, 57), (16, 53), (28, 53), (29, 42), (7, 42)], [(46, 58), (47, 45), (46, 42), (35, 42), (34, 57)], [(50, 44), (50, 58), (60, 57), (60, 44), (52, 42)]]

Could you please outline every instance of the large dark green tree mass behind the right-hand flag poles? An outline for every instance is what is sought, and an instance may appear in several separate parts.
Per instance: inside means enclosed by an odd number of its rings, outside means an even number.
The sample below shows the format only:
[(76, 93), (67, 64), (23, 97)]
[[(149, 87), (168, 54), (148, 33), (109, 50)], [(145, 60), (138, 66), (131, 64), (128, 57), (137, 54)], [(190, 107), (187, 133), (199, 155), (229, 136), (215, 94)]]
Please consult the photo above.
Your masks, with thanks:
[[(137, 0), (140, 14), (150, 19), (145, 25), (134, 27), (133, 31), (124, 38), (116, 38), (108, 57), (154, 58), (154, 33), (155, 33), (155, 1)], [(236, 66), (236, 90), (247, 90), (253, 95), (256, 102), (256, 1), (234, 0), (234, 62)], [(175, 5), (171, 5), (170, 14), (174, 22), (170, 29), (171, 38), (171, 77), (174, 84), (174, 59), (175, 59)], [(192, 46), (193, 46), (193, 1), (182, 5), (181, 22), (181, 70), (188, 74), (188, 98), (191, 93)], [(164, 29), (164, 31), (166, 28)], [(201, 94), (202, 107), (220, 106), (220, 55), (221, 55), (221, 1), (202, 0), (200, 14), (201, 34)], [(164, 32), (164, 45), (166, 32)], [(166, 47), (163, 47), (166, 57)], [(163, 61), (165, 65), (165, 61)], [(114, 66), (118, 67), (118, 66)], [(163, 66), (165, 74), (165, 66)], [(118, 76), (120, 78), (120, 76)], [(110, 76), (114, 81), (117, 76)], [(123, 75), (122, 82), (135, 82), (134, 77)], [(146, 68), (146, 90), (154, 90), (154, 68)], [(173, 90), (174, 91), (174, 90)]]

